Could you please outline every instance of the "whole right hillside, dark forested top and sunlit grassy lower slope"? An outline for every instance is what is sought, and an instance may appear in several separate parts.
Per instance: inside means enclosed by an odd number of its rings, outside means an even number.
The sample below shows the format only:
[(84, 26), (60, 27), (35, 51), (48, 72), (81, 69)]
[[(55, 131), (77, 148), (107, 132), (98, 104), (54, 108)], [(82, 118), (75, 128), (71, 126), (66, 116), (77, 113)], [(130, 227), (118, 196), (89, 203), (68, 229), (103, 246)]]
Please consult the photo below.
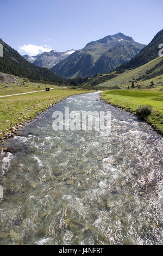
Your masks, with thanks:
[(85, 87), (128, 88), (132, 82), (142, 89), (163, 86), (163, 57), (159, 57), (159, 45), (162, 42), (163, 29), (129, 62), (119, 66), (110, 74), (97, 74), (89, 78)]

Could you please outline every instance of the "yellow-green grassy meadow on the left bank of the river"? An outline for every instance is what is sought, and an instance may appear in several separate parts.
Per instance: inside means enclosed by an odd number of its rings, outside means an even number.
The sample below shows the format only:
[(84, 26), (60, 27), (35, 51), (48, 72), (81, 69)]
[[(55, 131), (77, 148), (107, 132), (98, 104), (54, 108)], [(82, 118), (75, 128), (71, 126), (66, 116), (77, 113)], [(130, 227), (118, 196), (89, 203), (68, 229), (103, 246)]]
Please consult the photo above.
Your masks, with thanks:
[[(53, 86), (55, 87), (55, 86)], [(91, 92), (83, 89), (58, 88), (50, 92), (38, 92), (0, 98), (0, 138), (10, 132), (16, 123), (24, 123), (41, 111), (68, 96)], [(12, 90), (9, 94), (12, 94)], [(20, 93), (20, 92), (19, 92)]]

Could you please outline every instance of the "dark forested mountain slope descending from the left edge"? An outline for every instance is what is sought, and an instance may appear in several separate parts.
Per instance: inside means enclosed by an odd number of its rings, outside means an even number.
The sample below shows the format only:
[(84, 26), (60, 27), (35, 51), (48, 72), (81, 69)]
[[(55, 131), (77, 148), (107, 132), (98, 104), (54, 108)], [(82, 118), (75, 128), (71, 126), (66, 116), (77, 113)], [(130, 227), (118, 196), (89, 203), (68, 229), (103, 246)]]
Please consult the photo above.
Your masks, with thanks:
[(27, 77), (36, 81), (59, 82), (64, 83), (64, 78), (54, 74), (54, 72), (46, 69), (39, 68), (24, 59), (17, 51), (12, 49), (9, 45), (0, 39), (3, 45), (3, 57), (0, 57), (0, 71), (20, 76)]

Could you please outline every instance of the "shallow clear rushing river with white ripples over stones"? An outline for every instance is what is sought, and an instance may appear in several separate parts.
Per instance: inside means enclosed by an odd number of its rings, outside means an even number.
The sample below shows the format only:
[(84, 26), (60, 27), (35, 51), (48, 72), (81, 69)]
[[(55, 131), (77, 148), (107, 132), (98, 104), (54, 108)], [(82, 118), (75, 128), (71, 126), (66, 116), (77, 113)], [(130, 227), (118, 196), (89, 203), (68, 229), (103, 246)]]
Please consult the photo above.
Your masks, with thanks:
[[(111, 134), (54, 131), (54, 111), (111, 111)], [(99, 93), (27, 123), (0, 155), (0, 245), (160, 245), (163, 138)]]

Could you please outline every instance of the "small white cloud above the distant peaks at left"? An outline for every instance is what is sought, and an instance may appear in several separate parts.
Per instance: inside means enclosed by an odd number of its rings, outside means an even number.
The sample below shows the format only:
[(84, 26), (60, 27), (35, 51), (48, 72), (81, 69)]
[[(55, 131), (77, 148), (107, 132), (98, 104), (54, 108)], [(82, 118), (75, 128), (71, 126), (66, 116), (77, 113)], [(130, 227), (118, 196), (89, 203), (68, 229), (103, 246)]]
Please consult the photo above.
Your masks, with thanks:
[(39, 53), (42, 52), (50, 52), (53, 49), (51, 48), (51, 46), (49, 45), (32, 45), (32, 44), (28, 44), (28, 45), (22, 45), (18, 47), (18, 52), (22, 55), (24, 54), (28, 54), (30, 56), (35, 56)]

